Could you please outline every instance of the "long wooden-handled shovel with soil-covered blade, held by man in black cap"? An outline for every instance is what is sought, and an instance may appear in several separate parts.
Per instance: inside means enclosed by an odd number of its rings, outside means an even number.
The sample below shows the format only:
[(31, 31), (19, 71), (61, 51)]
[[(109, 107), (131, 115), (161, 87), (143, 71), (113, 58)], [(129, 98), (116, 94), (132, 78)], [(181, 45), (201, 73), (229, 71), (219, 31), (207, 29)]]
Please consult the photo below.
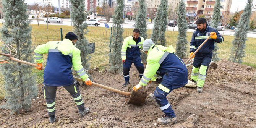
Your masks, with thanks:
[[(6, 45), (7, 46), (7, 45)], [(11, 46), (11, 45), (10, 45)], [(7, 46), (8, 47), (8, 46)], [(9, 48), (9, 47), (8, 47)], [(13, 48), (14, 49), (14, 48)], [(17, 52), (16, 52), (17, 53)], [(15, 62), (19, 62), (19, 63), (24, 63), (26, 65), (30, 65), (30, 66), (34, 66), (34, 67), (37, 67), (38, 65), (34, 64), (34, 63), (30, 63), (30, 62), (26, 62), (24, 60), (19, 60), (17, 58), (14, 58), (13, 55), (11, 55), (11, 50), (10, 50), (10, 54), (5, 54), (5, 53), (0, 53), (0, 55), (4, 55), (6, 57), (9, 57), (9, 59), (7, 60), (13, 60)], [(16, 54), (15, 54), (16, 55)], [(42, 69), (44, 69), (44, 67), (42, 67)], [(81, 78), (77, 78), (77, 77), (74, 77), (77, 81), (81, 81), (81, 82), (84, 82), (83, 79)], [(104, 89), (107, 89), (109, 91), (112, 91), (112, 92), (116, 92), (116, 93), (119, 93), (119, 94), (122, 94), (122, 95), (125, 95), (125, 96), (129, 96), (127, 99), (126, 99), (126, 102), (128, 104), (134, 104), (134, 105), (138, 105), (138, 106), (141, 106), (145, 103), (146, 101), (146, 97), (147, 97), (147, 92), (144, 91), (143, 89), (140, 89), (138, 91), (131, 91), (131, 92), (125, 92), (125, 91), (121, 91), (121, 90), (118, 90), (118, 89), (114, 89), (112, 87), (108, 87), (108, 86), (104, 86), (102, 84), (98, 84), (98, 83), (94, 83), (92, 82), (92, 85), (94, 86), (98, 86), (98, 87), (101, 87), (101, 88), (104, 88)]]

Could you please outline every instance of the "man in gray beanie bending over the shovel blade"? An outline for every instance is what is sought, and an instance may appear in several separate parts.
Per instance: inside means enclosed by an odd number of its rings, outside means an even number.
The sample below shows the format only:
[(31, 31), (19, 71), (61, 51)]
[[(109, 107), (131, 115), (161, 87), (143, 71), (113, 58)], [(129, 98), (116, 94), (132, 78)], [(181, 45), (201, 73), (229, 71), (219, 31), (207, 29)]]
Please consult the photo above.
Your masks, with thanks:
[(151, 83), (151, 81), (155, 81), (158, 76), (161, 76), (163, 78), (162, 82), (156, 87), (154, 94), (149, 94), (149, 98), (165, 114), (165, 117), (157, 119), (159, 123), (177, 123), (177, 117), (166, 96), (172, 90), (183, 87), (188, 83), (186, 65), (174, 53), (172, 46), (155, 45), (151, 39), (146, 39), (142, 47), (143, 51), (147, 54), (147, 66), (141, 81), (133, 87), (133, 90), (137, 91)]

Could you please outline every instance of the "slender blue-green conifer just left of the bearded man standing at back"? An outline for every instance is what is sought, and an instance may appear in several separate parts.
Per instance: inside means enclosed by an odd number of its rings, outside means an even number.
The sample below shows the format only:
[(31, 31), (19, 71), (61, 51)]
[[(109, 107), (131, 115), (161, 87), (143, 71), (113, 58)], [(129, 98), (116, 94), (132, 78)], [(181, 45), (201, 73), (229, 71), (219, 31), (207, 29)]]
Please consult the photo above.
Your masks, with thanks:
[(121, 48), (123, 42), (123, 0), (117, 0), (117, 8), (115, 8), (115, 15), (113, 15), (113, 35), (112, 44), (110, 45), (111, 52), (109, 54), (110, 58), (110, 69), (112, 73), (117, 73), (118, 70), (122, 69), (122, 59), (121, 59)]

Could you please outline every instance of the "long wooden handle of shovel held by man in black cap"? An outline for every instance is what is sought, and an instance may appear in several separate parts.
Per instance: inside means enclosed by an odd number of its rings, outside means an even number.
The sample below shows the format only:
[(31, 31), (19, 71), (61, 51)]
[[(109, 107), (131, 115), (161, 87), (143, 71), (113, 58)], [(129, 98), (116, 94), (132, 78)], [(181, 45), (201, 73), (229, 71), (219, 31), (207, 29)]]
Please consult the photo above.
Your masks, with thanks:
[[(17, 58), (13, 58), (13, 57), (10, 57), (11, 60), (15, 61), (15, 62), (19, 62), (19, 63), (24, 63), (26, 65), (30, 65), (30, 66), (34, 66), (34, 67), (37, 67), (38, 65), (34, 64), (34, 63), (30, 63), (30, 62), (26, 62), (24, 60), (19, 60)], [(42, 69), (44, 69), (44, 67), (42, 67)], [(81, 81), (81, 82), (84, 82), (83, 79), (81, 78), (77, 78), (77, 77), (74, 77), (77, 81)], [(92, 82), (92, 85), (94, 86), (98, 86), (98, 87), (101, 87), (101, 88), (104, 88), (104, 89), (107, 89), (109, 91), (112, 91), (112, 92), (117, 92), (119, 94), (122, 94), (122, 95), (125, 95), (125, 96), (130, 96), (131, 93), (130, 92), (125, 92), (125, 91), (121, 91), (121, 90), (118, 90), (118, 89), (114, 89), (112, 87), (108, 87), (108, 86), (104, 86), (102, 84), (98, 84), (98, 83), (94, 83)]]

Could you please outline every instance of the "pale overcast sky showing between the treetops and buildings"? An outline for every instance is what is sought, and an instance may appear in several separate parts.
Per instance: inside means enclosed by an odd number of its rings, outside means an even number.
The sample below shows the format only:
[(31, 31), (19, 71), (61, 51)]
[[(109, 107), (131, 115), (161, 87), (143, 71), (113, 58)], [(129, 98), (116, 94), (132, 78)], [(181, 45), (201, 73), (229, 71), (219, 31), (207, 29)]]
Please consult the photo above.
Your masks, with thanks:
[[(42, 2), (42, 0), (25, 0), (25, 3), (32, 4), (37, 1)], [(51, 3), (53, 3), (53, 6), (56, 6), (56, 7), (58, 6), (58, 0), (50, 0), (50, 1), (51, 1)], [(127, 0), (125, 0), (125, 1), (127, 1)], [(238, 11), (243, 10), (245, 8), (246, 2), (247, 2), (247, 0), (232, 0), (230, 12), (235, 12), (237, 10), (237, 8), (238, 8)], [(255, 5), (256, 0), (253, 0), (253, 2)], [(253, 8), (253, 11), (256, 11), (256, 10)]]

